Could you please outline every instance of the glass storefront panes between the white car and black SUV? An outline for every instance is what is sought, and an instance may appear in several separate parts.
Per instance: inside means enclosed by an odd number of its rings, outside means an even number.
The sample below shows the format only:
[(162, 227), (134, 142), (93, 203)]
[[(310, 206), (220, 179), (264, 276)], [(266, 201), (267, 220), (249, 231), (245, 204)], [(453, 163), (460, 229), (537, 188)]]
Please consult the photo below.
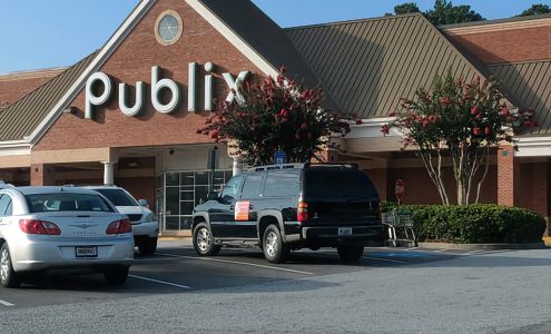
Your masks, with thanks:
[(232, 170), (216, 170), (214, 175), (209, 170), (170, 171), (159, 176), (165, 194), (165, 230), (190, 228), (194, 207), (207, 200), (210, 183), (213, 191), (218, 191), (229, 178)]

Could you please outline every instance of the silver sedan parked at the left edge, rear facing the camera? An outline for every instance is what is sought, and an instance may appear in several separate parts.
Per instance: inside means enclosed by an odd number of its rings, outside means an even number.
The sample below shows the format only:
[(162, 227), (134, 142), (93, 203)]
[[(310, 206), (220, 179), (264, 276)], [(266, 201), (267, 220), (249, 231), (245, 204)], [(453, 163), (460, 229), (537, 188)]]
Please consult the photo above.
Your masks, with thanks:
[(70, 269), (122, 284), (134, 259), (130, 222), (101, 195), (75, 187), (0, 185), (0, 283)]

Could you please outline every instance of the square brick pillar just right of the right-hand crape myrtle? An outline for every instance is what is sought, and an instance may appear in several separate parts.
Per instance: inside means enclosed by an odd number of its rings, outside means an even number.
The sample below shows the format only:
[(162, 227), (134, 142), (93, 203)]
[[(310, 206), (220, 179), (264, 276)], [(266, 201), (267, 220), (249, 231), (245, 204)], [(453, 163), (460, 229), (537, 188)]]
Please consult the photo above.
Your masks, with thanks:
[(519, 203), (520, 163), (514, 158), (512, 145), (498, 150), (498, 204), (514, 206)]

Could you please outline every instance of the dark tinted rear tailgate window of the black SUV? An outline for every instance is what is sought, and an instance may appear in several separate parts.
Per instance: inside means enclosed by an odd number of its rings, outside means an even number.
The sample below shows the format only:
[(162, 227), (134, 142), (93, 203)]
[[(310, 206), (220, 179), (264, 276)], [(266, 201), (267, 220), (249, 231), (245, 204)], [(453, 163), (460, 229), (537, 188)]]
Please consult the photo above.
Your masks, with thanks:
[(304, 193), (308, 197), (378, 198), (367, 175), (358, 169), (311, 168), (304, 175)]

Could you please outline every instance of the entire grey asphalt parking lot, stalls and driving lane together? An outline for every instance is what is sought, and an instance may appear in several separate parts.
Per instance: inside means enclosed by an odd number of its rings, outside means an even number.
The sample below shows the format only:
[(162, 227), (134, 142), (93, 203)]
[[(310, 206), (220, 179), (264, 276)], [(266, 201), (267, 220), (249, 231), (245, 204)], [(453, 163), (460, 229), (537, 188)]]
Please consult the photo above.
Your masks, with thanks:
[(101, 275), (0, 287), (0, 333), (551, 333), (551, 249), (333, 249), (284, 265), (257, 249), (197, 257), (181, 242)]

